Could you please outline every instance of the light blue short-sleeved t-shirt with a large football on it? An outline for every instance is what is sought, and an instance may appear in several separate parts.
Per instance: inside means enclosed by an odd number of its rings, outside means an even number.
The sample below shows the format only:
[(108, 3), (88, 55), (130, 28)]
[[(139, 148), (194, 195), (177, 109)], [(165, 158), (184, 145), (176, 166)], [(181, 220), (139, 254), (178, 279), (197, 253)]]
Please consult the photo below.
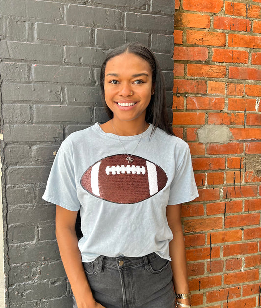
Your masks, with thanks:
[(83, 262), (152, 252), (171, 260), (166, 206), (198, 192), (188, 144), (159, 128), (151, 136), (152, 128), (142, 138), (120, 136), (123, 147), (96, 123), (72, 133), (58, 150), (43, 199), (80, 210)]

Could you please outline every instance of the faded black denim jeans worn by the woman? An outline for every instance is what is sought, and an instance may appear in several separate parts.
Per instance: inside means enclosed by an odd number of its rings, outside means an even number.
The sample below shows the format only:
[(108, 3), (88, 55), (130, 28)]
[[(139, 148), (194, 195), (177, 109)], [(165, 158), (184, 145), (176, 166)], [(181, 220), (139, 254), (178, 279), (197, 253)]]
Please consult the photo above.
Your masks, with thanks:
[(96, 302), (106, 308), (174, 308), (170, 261), (156, 253), (99, 256), (83, 265)]

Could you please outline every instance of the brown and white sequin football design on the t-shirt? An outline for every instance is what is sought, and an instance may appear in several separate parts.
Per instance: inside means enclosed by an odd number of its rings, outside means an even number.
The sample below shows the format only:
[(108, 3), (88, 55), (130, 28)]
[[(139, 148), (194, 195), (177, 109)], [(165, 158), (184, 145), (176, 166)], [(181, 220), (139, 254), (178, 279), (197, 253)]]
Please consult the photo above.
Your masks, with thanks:
[(132, 204), (146, 200), (167, 183), (167, 175), (158, 165), (133, 155), (105, 157), (90, 166), (81, 178), (82, 187), (97, 198), (113, 203)]

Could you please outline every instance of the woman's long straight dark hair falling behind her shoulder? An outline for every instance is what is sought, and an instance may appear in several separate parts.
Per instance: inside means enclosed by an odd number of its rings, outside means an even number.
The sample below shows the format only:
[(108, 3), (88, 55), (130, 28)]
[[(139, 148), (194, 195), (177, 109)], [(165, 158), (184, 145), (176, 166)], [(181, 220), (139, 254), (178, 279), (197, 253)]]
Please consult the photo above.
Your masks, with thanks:
[(128, 43), (116, 47), (107, 55), (106, 59), (104, 60), (101, 66), (101, 72), (100, 72), (101, 97), (107, 115), (109, 116), (109, 118), (113, 118), (113, 112), (105, 102), (105, 95), (104, 95), (105, 67), (107, 62), (111, 58), (126, 52), (133, 53), (141, 57), (142, 59), (146, 60), (149, 63), (152, 70), (152, 83), (155, 85), (155, 88), (154, 88), (154, 95), (151, 95), (150, 103), (146, 110), (145, 121), (154, 125), (153, 132), (157, 127), (159, 127), (166, 133), (174, 135), (168, 122), (165, 82), (161, 68), (153, 52), (148, 47), (138, 42)]

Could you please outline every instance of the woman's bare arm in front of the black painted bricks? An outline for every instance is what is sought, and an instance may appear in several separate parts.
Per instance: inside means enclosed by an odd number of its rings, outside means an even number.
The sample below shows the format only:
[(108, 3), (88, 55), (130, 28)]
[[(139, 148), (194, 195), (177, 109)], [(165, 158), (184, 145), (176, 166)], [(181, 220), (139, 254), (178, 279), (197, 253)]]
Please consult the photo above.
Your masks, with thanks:
[(78, 308), (104, 308), (93, 298), (84, 272), (75, 231), (77, 213), (56, 206), (56, 238), (60, 255)]

